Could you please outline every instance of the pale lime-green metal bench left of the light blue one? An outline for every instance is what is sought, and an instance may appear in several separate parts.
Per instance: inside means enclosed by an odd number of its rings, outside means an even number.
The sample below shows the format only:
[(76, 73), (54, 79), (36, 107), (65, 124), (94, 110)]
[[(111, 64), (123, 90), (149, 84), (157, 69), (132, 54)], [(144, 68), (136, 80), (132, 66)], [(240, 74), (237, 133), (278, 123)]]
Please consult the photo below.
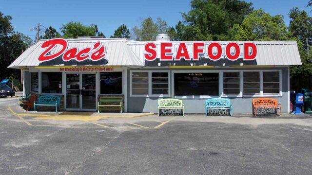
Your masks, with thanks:
[(184, 116), (184, 104), (182, 100), (178, 99), (161, 99), (158, 100), (158, 117), (160, 109), (180, 109), (182, 110), (182, 116)]

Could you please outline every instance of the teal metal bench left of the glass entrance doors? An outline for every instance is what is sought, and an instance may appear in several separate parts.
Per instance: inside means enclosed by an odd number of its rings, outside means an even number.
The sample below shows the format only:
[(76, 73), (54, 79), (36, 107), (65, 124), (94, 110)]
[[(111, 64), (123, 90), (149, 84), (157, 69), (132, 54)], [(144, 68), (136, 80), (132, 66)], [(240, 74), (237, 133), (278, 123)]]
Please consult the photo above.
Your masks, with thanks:
[(60, 107), (60, 96), (56, 95), (41, 95), (38, 101), (34, 102), (34, 109), (36, 106), (55, 106), (55, 112), (58, 112), (58, 106)]

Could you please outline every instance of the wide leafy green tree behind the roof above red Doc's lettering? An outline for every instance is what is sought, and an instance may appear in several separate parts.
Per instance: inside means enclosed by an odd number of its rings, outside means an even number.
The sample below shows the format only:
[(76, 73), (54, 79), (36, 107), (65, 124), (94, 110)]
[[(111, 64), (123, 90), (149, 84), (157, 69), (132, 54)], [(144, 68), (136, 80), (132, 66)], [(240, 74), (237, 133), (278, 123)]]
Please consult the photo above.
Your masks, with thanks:
[(78, 38), (78, 36), (104, 36), (105, 35), (98, 31), (98, 26), (91, 24), (90, 26), (85, 26), (80, 22), (69, 22), (63, 24), (60, 28), (63, 33), (63, 38)]

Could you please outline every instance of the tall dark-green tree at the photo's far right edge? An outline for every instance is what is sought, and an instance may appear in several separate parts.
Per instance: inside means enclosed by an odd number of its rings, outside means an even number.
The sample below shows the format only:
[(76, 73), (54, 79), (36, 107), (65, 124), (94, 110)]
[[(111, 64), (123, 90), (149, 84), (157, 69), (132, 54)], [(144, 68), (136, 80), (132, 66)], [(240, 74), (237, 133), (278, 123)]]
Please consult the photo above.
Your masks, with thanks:
[(307, 48), (306, 39), (308, 39), (308, 46), (312, 44), (312, 18), (308, 16), (307, 12), (300, 11), (298, 7), (292, 8), (289, 13), (291, 18), (289, 24), (289, 31), (293, 37), (296, 37), (304, 44), (304, 49)]

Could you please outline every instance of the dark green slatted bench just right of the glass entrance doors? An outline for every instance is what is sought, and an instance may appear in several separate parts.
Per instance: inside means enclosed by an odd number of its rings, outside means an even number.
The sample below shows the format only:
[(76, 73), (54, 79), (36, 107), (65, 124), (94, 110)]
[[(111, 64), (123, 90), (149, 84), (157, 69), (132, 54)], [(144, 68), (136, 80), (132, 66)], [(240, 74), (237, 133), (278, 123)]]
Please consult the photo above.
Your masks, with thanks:
[(100, 97), (98, 101), (98, 113), (101, 110), (120, 110), (120, 113), (122, 113), (122, 102), (122, 97)]

